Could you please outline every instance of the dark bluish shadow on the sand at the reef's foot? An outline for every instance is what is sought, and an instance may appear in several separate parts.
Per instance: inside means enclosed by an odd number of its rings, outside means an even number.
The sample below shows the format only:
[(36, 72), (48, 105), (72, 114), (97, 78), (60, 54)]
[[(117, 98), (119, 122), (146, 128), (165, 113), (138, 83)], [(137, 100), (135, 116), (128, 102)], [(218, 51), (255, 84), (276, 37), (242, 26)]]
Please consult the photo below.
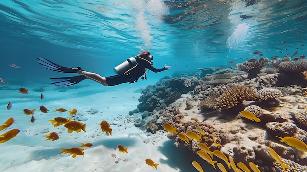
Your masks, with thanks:
[(197, 172), (192, 161), (197, 161), (205, 172), (220, 172), (187, 147), (177, 148), (174, 140), (165, 141), (162, 147), (158, 147), (158, 150), (167, 158), (167, 160), (160, 159), (159, 161), (174, 169), (178, 168), (179, 172)]

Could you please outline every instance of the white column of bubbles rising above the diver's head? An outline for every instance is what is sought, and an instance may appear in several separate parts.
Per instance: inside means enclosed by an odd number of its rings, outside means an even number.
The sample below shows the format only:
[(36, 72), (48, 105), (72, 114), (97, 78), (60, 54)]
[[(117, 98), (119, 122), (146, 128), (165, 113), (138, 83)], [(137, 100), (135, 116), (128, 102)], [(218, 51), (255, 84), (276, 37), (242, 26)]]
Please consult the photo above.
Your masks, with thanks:
[[(140, 48), (151, 47), (151, 25), (161, 24), (163, 14), (168, 13), (168, 8), (162, 0), (133, 0), (131, 6), (135, 9), (133, 17), (135, 18), (135, 37), (141, 39)], [(152, 22), (153, 21), (153, 22)], [(149, 24), (149, 22), (152, 22)]]

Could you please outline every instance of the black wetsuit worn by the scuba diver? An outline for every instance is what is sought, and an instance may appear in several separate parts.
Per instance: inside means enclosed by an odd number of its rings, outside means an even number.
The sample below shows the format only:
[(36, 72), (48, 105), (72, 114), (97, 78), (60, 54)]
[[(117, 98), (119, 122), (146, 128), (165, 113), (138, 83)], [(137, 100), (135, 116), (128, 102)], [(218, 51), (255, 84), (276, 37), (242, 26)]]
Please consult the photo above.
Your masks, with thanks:
[(136, 57), (136, 66), (130, 71), (106, 77), (106, 83), (108, 86), (118, 85), (126, 82), (134, 83), (146, 72), (146, 68), (153, 72), (161, 72), (166, 70), (165, 68), (154, 68), (148, 61), (145, 61), (141, 58)]

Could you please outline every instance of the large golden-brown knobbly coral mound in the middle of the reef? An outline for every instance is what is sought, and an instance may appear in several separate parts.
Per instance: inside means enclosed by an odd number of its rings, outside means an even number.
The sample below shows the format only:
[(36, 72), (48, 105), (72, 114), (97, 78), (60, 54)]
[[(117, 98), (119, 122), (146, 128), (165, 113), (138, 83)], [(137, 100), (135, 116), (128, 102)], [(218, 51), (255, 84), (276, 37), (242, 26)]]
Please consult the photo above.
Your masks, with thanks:
[(230, 109), (233, 106), (245, 101), (256, 100), (257, 92), (253, 88), (245, 85), (233, 85), (227, 89), (222, 95), (215, 99), (217, 106), (221, 109)]

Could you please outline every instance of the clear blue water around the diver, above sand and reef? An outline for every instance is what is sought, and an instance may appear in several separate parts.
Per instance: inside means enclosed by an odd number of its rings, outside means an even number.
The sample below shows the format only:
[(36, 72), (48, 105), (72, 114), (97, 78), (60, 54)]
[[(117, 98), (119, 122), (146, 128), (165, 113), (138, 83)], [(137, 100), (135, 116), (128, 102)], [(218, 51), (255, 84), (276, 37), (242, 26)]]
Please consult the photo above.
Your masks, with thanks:
[(156, 68), (171, 66), (135, 83), (153, 84), (175, 71), (235, 66), (258, 58), (254, 51), (306, 55), (306, 11), (306, 0), (1, 0), (0, 78), (22, 85), (63, 76), (37, 57), (110, 76), (149, 50)]

